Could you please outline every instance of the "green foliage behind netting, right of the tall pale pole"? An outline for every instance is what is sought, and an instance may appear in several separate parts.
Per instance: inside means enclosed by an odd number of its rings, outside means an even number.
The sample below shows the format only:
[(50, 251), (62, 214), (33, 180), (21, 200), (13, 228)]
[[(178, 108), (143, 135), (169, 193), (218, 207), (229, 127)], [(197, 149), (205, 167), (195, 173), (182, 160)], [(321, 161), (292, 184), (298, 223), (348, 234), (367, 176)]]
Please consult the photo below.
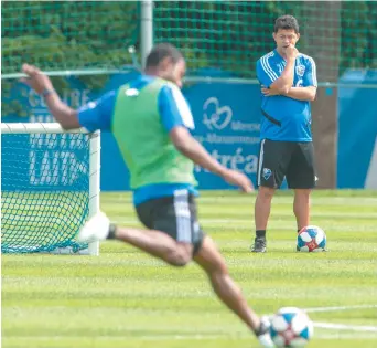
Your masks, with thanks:
[[(349, 67), (377, 67), (377, 2), (342, 2), (340, 9), (341, 40), (334, 38), (340, 42), (338, 73)], [(332, 25), (327, 11), (325, 3), (316, 1), (158, 1), (154, 39), (182, 48), (194, 71), (209, 65), (252, 78), (256, 61), (274, 48), (271, 32), (276, 18), (293, 14), (299, 19), (299, 49), (315, 59), (317, 48), (311, 46), (311, 35), (327, 34), (326, 25)], [(316, 17), (312, 27), (309, 17)]]

